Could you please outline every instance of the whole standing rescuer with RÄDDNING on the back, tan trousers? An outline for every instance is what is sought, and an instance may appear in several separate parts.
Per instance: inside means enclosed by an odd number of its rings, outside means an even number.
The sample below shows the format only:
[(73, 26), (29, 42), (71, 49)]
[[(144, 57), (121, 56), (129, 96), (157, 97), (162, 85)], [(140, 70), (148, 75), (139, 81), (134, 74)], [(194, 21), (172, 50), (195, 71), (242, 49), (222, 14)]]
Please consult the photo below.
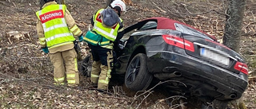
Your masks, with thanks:
[(54, 65), (54, 84), (78, 86), (77, 53), (74, 49), (76, 38), (82, 41), (82, 31), (75, 24), (65, 5), (55, 0), (44, 0), (38, 17), (37, 32), (42, 51), (49, 53)]

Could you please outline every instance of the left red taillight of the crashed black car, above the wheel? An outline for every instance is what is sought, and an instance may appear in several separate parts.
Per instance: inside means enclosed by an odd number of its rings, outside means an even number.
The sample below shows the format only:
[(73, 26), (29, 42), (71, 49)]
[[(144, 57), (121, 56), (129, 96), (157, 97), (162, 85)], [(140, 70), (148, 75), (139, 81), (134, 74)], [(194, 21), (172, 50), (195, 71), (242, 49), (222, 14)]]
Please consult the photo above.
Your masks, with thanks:
[(173, 35), (162, 35), (164, 41), (166, 41), (169, 45), (174, 45), (182, 49), (189, 50), (191, 52), (194, 52), (194, 45), (192, 42), (184, 40), (181, 37), (176, 37)]

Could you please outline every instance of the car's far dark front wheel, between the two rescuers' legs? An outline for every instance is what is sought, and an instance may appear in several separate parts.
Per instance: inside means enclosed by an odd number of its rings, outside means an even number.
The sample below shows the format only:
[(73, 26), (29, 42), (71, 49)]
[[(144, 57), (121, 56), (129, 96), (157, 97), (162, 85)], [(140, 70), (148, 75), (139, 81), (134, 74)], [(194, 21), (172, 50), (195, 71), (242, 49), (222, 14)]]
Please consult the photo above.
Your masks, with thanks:
[(78, 71), (81, 76), (90, 77), (92, 62), (90, 62), (90, 55), (78, 63)]

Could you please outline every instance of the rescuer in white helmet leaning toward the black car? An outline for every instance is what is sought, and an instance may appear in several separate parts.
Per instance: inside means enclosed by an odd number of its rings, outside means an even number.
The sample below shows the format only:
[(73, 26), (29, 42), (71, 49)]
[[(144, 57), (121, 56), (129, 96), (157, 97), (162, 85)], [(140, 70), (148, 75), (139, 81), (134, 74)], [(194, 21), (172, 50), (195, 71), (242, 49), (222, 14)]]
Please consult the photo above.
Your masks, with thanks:
[[(110, 72), (114, 66), (113, 45), (118, 39), (118, 30), (122, 29), (122, 19), (119, 17), (123, 11), (126, 11), (126, 5), (121, 0), (114, 0), (108, 8), (98, 10), (91, 19), (94, 25), (92, 31), (87, 32), (84, 37), (94, 60), (90, 80), (92, 84), (98, 84), (100, 91), (108, 89)], [(113, 18), (108, 21), (106, 14)], [(114, 25), (111, 26), (111, 23)]]

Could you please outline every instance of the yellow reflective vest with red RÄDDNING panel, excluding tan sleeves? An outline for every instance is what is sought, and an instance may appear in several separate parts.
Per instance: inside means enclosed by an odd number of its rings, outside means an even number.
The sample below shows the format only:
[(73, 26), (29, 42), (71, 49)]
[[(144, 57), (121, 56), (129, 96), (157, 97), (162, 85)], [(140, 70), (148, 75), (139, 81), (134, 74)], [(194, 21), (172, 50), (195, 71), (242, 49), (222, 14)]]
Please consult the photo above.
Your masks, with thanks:
[(65, 21), (65, 10), (65, 5), (50, 5), (36, 13), (39, 21), (42, 22), (48, 48), (68, 45), (75, 40)]

